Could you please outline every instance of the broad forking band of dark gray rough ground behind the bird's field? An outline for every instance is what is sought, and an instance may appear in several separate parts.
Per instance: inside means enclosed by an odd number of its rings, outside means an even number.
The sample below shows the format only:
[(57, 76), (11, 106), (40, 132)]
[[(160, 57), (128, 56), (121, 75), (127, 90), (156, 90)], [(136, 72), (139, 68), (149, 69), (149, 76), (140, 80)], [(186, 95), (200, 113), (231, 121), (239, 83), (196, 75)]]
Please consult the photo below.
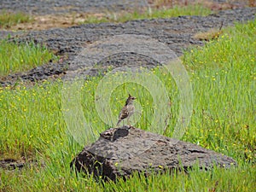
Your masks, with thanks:
[[(13, 5), (11, 5), (10, 2), (12, 1), (9, 1), (9, 6), (12, 8), (11, 6)], [(20, 1), (14, 2), (16, 3), (15, 6), (18, 8)], [(42, 1), (39, 2), (42, 3)], [(51, 2), (62, 3), (63, 1)], [(67, 1), (65, 2), (66, 3), (64, 3), (63, 6), (69, 6)], [(76, 2), (79, 1), (75, 1), (73, 4), (75, 5)], [(109, 2), (113, 3), (113, 1), (110, 0)], [(97, 3), (99, 3), (99, 6), (105, 6), (101, 1)], [(108, 3), (108, 1), (105, 3)], [(126, 8), (125, 4), (123, 5), (124, 8)], [(26, 8), (33, 11), (32, 7), (33, 4), (28, 4)], [(119, 6), (115, 6), (115, 8), (116, 7)], [(123, 9), (123, 6), (120, 6), (119, 8)], [(84, 6), (80, 9), (84, 11), (84, 9), (88, 9), (88, 7)], [(45, 12), (46, 14), (48, 14), (47, 11)], [(52, 12), (52, 10), (49, 11)], [(86, 72), (86, 74), (90, 75), (96, 75), (99, 70), (108, 66), (129, 66), (134, 65), (134, 63), (142, 66), (154, 66), (156, 62), (154, 61), (154, 58), (150, 58), (150, 56), (123, 52), (118, 53), (117, 55), (109, 55), (108, 58), (101, 55), (96, 60), (96, 55), (92, 55), (92, 52), (93, 49), (102, 49), (102, 44), (98, 44), (102, 39), (133, 34), (153, 38), (160, 43), (166, 44), (166, 46), (168, 46), (169, 49), (172, 49), (176, 55), (182, 55), (183, 49), (186, 49), (191, 45), (203, 44), (201, 40), (194, 38), (194, 35), (197, 32), (207, 32), (212, 28), (218, 28), (222, 23), (224, 26), (230, 26), (235, 22), (253, 20), (255, 13), (255, 8), (229, 9), (220, 11), (218, 14), (208, 15), (207, 17), (182, 16), (172, 19), (134, 20), (122, 24), (102, 23), (55, 28), (44, 31), (13, 33), (18, 38), (18, 41), (34, 41), (39, 44), (46, 44), (49, 49), (54, 50), (55, 54), (60, 55), (61, 59), (57, 63), (49, 63), (43, 67), (34, 68), (27, 73), (9, 75), (8, 77), (0, 79), (0, 85), (13, 84), (17, 79), (37, 81), (63, 76), (66, 78), (73, 78), (78, 74), (85, 74), (84, 72), (90, 67), (88, 63), (84, 62), (84, 58), (86, 58), (87, 61), (91, 60), (101, 63), (101, 65), (93, 67), (89, 73)], [(4, 37), (8, 33), (9, 32), (2, 31), (0, 32), (0, 35)], [(136, 40), (133, 39), (133, 41)], [(124, 49), (134, 49), (132, 43), (131, 39), (131, 42), (126, 44)], [(136, 42), (134, 43), (136, 44)], [(112, 47), (108, 46), (110, 52), (115, 51), (119, 42), (112, 42), (112, 44)], [(89, 53), (83, 52), (83, 49), (89, 50)]]

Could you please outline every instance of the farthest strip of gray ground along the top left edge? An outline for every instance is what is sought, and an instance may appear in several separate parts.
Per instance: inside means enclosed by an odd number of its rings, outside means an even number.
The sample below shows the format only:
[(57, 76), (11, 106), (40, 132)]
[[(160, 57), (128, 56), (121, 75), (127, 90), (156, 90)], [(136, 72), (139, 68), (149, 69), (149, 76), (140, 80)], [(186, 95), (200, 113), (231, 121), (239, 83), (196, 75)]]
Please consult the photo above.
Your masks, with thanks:
[(144, 7), (147, 5), (147, 1), (143, 0), (9, 0), (0, 1), (1, 9), (22, 11), (30, 13), (32, 15), (49, 15), (49, 14), (65, 14), (70, 12), (76, 13), (95, 13), (99, 11), (119, 11), (125, 9), (134, 9), (138, 7)]

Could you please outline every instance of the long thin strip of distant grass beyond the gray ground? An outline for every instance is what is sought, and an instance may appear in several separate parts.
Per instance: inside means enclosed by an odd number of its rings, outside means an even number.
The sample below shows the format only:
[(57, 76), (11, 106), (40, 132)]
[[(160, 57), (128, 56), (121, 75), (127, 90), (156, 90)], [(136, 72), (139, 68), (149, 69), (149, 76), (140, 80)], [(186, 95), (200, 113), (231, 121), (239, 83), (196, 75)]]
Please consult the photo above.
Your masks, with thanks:
[(155, 18), (171, 18), (182, 15), (201, 15), (206, 16), (212, 13), (211, 9), (207, 9), (201, 4), (188, 6), (173, 6), (172, 9), (147, 9), (145, 11), (134, 11), (132, 13), (121, 13), (103, 15), (101, 17), (90, 15), (83, 23), (102, 23), (102, 22), (125, 22), (127, 20), (143, 20)]

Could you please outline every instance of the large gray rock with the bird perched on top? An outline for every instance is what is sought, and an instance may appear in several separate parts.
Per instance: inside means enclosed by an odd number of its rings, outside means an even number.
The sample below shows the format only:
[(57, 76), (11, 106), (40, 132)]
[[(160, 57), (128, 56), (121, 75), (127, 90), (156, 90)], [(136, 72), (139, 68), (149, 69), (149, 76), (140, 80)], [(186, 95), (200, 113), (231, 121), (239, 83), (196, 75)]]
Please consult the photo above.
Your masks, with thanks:
[(102, 132), (96, 143), (84, 147), (71, 162), (79, 172), (112, 180), (129, 177), (132, 172), (148, 175), (195, 165), (205, 170), (214, 165), (228, 168), (236, 161), (192, 143), (124, 126)]

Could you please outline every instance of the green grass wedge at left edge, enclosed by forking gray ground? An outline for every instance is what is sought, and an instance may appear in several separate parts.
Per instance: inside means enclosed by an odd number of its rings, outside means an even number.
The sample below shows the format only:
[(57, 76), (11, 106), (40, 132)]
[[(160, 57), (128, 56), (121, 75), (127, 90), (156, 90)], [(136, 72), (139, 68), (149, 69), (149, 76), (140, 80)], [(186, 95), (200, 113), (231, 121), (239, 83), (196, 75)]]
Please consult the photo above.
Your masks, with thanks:
[(39, 44), (0, 41), (0, 76), (28, 71), (52, 59), (55, 55)]

